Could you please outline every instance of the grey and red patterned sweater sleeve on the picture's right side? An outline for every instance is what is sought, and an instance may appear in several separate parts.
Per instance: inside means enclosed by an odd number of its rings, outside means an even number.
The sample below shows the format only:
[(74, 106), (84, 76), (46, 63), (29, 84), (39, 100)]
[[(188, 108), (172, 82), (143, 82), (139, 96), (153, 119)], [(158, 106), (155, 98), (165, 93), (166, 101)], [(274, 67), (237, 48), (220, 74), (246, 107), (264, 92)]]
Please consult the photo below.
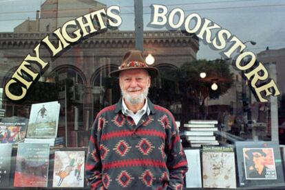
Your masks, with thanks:
[(167, 167), (169, 169), (169, 185), (167, 189), (182, 189), (184, 176), (188, 170), (187, 158), (184, 154), (176, 123), (171, 117), (171, 130), (167, 139)]

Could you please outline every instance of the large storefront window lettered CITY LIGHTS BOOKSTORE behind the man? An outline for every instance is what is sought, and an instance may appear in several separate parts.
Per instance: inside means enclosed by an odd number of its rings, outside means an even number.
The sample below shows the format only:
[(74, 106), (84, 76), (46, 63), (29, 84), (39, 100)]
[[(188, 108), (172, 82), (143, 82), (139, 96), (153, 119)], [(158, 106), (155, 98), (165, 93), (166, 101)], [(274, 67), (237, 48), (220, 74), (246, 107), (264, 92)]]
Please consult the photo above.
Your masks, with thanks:
[[(98, 112), (121, 97), (118, 79), (109, 73), (118, 69), (130, 49), (140, 49), (144, 58), (154, 58), (151, 67), (160, 75), (151, 79), (149, 99), (167, 108), (180, 122), (185, 149), (198, 147), (201, 152), (211, 152), (202, 145), (222, 147), (220, 151), (235, 147), (226, 151), (235, 152), (237, 160), (242, 158), (236, 152), (244, 145), (240, 141), (268, 143), (275, 152), (283, 151), (284, 5), (281, 0), (0, 2), (0, 145), (13, 144), (15, 158), (8, 169), (10, 176), (5, 178), (10, 181), (0, 178), (0, 189), (21, 187), (14, 182), (19, 169), (15, 163), (18, 145), (29, 139), (25, 130), (32, 117), (45, 123), (44, 117), (52, 115), (47, 105), (58, 106), (54, 111), (59, 115), (54, 127), (59, 143), (50, 146), (50, 161), (87, 154)], [(191, 136), (199, 136), (189, 134), (191, 128), (198, 127), (191, 127), (195, 122), (205, 124), (204, 131), (211, 128), (201, 134), (212, 140), (193, 143)], [(59, 148), (79, 153), (56, 153), (59, 157), (55, 158), (54, 151)], [(261, 147), (254, 144), (249, 148)], [(256, 156), (256, 152), (246, 151), (246, 157)], [(277, 156), (278, 161), (272, 158), (275, 167), (282, 167), (283, 152), (266, 151), (266, 155)], [(201, 153), (200, 163), (202, 157)], [(264, 159), (273, 172), (269, 158)], [(238, 179), (242, 163), (237, 160)], [(65, 184), (62, 178), (53, 183), (52, 167), (42, 187)], [(0, 156), (0, 177), (1, 171)], [(72, 187), (87, 188), (86, 182), (79, 180), (83, 173)], [(283, 178), (283, 169), (273, 173), (271, 177)], [(271, 177), (262, 179), (275, 180)], [(237, 188), (284, 186), (284, 179), (260, 185), (240, 179), (236, 182)], [(202, 183), (197, 187), (202, 188)]]

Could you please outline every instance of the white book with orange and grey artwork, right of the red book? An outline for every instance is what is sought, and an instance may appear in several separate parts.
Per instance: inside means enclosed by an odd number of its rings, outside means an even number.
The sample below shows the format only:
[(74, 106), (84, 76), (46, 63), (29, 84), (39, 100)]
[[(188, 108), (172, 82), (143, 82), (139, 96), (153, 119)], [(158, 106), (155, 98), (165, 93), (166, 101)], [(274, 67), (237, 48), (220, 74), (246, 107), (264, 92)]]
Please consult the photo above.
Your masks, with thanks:
[(84, 187), (84, 151), (54, 152), (52, 187)]

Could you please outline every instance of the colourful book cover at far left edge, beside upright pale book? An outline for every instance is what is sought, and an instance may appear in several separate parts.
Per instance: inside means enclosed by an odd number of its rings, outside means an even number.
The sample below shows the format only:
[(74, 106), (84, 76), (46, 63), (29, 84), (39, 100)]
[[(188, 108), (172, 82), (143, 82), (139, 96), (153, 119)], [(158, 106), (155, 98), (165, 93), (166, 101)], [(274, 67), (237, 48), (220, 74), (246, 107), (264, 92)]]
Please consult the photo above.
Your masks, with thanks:
[(23, 143), (26, 132), (26, 123), (0, 123), (0, 143)]

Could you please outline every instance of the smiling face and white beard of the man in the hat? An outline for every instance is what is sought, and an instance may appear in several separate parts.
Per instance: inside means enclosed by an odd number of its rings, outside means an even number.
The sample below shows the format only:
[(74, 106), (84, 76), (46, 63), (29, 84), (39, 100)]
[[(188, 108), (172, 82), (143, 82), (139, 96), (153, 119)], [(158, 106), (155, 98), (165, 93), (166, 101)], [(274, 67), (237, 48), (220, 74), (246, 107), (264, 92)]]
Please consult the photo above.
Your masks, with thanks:
[(119, 82), (125, 101), (139, 104), (147, 97), (151, 79), (145, 69), (131, 69), (120, 72)]

